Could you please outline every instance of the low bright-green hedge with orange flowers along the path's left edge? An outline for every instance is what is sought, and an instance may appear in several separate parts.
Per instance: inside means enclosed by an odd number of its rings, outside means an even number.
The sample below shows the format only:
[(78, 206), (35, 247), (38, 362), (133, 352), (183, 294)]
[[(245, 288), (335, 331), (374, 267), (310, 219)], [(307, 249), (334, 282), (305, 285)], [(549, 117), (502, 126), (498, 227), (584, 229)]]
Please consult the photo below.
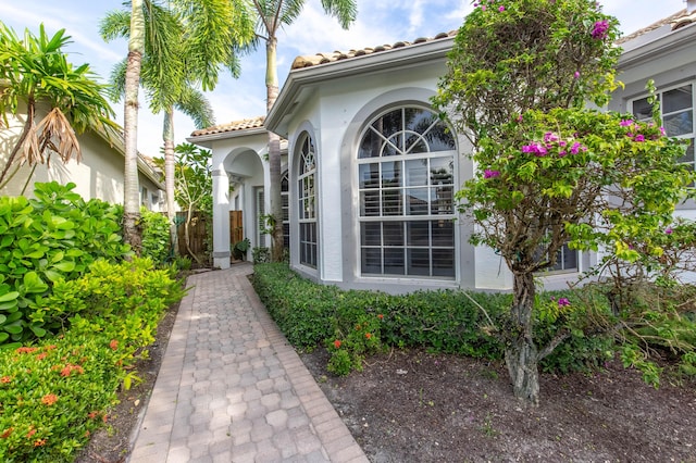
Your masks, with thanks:
[(164, 310), (182, 297), (166, 271), (140, 259), (99, 261), (59, 285), (42, 311), (70, 316), (70, 329), (0, 350), (3, 462), (73, 461), (90, 433), (109, 422), (119, 386), (137, 380), (134, 360), (147, 354)]

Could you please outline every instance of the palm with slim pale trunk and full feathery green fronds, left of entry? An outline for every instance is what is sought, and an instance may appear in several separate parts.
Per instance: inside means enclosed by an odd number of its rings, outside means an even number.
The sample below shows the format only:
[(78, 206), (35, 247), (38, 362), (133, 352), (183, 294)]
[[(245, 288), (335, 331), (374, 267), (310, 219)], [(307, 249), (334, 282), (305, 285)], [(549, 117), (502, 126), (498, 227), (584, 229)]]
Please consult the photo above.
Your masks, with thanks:
[[(174, 110), (194, 120), (198, 128), (214, 124), (212, 108), (201, 86), (212, 90), (221, 67), (239, 74), (237, 51), (253, 38), (249, 11), (238, 2), (173, 1), (164, 8), (144, 0), (145, 55), (140, 84), (147, 93), (150, 110), (164, 114), (164, 177), (167, 214), (173, 249), (176, 250), (174, 200)], [(104, 40), (128, 37), (130, 17), (125, 11), (110, 12), (101, 22)], [(126, 63), (112, 73), (116, 96), (125, 90)]]

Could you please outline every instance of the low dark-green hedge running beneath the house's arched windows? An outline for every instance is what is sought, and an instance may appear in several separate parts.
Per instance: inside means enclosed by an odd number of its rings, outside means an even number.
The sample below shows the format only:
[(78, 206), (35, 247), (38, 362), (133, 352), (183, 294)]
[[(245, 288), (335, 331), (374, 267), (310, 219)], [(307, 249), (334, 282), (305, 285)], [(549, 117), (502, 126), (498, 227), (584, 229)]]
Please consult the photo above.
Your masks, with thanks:
[[(361, 370), (366, 355), (389, 347), (487, 360), (504, 356), (506, 334), (500, 327), (509, 326), (512, 295), (344, 291), (303, 279), (282, 263), (256, 265), (252, 283), (288, 341), (300, 349), (325, 346), (331, 354), (328, 370), (336, 375)], [(540, 366), (561, 374), (601, 368), (614, 358), (619, 342), (624, 364), (639, 368), (654, 383), (660, 370), (644, 351), (634, 349), (648, 342), (652, 352), (673, 352), (683, 374), (696, 372), (695, 292), (683, 287), (663, 293), (663, 302), (669, 298), (671, 304), (691, 312), (644, 315), (651, 322), (632, 329), (617, 323), (601, 287), (538, 295), (534, 338), (542, 346), (558, 343), (545, 353)], [(642, 337), (635, 336), (638, 333)]]

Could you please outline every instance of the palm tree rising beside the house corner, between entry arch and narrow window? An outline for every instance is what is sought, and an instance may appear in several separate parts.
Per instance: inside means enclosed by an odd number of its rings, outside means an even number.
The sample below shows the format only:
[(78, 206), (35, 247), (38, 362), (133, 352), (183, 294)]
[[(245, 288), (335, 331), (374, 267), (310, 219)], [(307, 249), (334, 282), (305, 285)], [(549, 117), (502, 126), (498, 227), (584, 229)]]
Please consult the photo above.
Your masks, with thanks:
[[(302, 12), (304, 0), (253, 0), (258, 15), (257, 30), (265, 40), (265, 87), (266, 112), (270, 112), (278, 96), (277, 76), (277, 32), (283, 25), (290, 25)], [(326, 14), (338, 18), (343, 28), (356, 20), (357, 0), (322, 0)], [(283, 260), (283, 203), (281, 200), (281, 138), (269, 132), (269, 170), (271, 174), (271, 216), (275, 218), (273, 228), (272, 260)]]

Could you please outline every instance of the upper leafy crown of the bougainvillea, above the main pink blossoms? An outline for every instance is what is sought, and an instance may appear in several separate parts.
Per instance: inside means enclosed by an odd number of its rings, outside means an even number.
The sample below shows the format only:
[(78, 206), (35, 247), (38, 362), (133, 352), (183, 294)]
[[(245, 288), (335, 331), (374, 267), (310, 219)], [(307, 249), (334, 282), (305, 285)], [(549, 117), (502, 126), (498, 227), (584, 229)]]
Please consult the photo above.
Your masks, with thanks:
[[(436, 107), (476, 142), (531, 109), (607, 102), (621, 49), (618, 21), (594, 0), (478, 2), (448, 54)], [(606, 22), (606, 23), (604, 23)], [(597, 24), (606, 24), (601, 30)], [(597, 34), (600, 32), (600, 34)]]

